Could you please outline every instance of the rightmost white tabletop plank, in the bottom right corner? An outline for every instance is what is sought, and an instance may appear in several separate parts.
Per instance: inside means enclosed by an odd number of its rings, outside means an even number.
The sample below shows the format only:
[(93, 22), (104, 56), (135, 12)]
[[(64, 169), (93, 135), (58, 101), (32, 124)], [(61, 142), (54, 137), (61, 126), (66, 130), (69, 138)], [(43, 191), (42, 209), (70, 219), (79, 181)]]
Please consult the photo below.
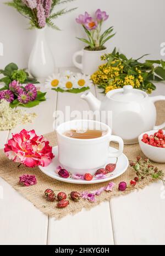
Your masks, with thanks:
[(164, 195), (160, 181), (111, 199), (115, 244), (165, 244)]

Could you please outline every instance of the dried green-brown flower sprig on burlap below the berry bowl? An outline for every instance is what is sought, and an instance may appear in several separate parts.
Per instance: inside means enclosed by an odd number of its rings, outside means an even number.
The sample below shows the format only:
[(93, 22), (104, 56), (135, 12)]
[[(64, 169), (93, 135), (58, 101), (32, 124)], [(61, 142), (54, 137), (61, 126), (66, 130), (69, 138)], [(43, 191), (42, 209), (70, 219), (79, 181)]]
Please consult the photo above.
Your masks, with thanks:
[(136, 172), (139, 181), (144, 178), (161, 179), (163, 181), (163, 171), (153, 166), (149, 159), (142, 159), (137, 156), (136, 161), (130, 161), (130, 167)]

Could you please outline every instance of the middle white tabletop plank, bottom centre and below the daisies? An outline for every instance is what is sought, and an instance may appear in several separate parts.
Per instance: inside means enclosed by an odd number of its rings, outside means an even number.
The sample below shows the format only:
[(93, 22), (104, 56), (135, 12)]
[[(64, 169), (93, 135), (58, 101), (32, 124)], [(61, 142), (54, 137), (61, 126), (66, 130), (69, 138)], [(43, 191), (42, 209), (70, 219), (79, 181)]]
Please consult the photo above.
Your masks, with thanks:
[[(61, 69), (61, 70), (64, 70)], [(76, 69), (72, 69), (76, 72)], [(95, 88), (91, 88), (95, 95)], [(70, 110), (89, 110), (87, 103), (80, 99), (80, 94), (58, 92), (57, 110), (64, 112), (65, 106)], [(77, 117), (78, 118), (78, 117)], [(48, 226), (48, 244), (113, 244), (113, 231), (109, 203), (83, 210), (74, 216), (62, 220), (50, 218)]]

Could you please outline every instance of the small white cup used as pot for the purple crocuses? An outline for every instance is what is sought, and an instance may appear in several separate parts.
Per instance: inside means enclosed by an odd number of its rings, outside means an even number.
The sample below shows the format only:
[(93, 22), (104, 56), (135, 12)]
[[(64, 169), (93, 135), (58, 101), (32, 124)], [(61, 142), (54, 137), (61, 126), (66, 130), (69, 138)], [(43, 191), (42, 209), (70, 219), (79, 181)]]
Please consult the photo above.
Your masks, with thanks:
[[(87, 51), (81, 50), (75, 52), (73, 55), (73, 64), (76, 68), (81, 69), (81, 72), (86, 75), (92, 75), (97, 69), (98, 66), (105, 63), (101, 61), (101, 56), (107, 52), (107, 49), (102, 51)], [(79, 63), (76, 61), (78, 56), (82, 57), (82, 62)]]

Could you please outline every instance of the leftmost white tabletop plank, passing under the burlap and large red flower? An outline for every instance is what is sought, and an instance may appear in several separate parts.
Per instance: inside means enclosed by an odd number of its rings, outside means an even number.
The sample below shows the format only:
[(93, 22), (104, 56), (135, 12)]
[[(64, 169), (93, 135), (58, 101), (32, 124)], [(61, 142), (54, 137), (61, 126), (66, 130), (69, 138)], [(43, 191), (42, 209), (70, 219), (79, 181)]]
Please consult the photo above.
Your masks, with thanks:
[[(41, 85), (41, 90), (46, 91)], [(21, 129), (35, 129), (37, 134), (52, 132), (53, 112), (56, 110), (57, 92), (49, 90), (47, 100), (33, 108), (26, 108), (27, 112), (37, 113), (33, 123), (20, 125), (10, 131), (20, 132)], [(1, 132), (1, 147), (7, 140), (7, 132)], [(46, 244), (48, 217), (37, 210), (34, 205), (23, 198), (3, 179), (0, 180), (3, 188), (3, 199), (0, 199), (0, 244)]]

